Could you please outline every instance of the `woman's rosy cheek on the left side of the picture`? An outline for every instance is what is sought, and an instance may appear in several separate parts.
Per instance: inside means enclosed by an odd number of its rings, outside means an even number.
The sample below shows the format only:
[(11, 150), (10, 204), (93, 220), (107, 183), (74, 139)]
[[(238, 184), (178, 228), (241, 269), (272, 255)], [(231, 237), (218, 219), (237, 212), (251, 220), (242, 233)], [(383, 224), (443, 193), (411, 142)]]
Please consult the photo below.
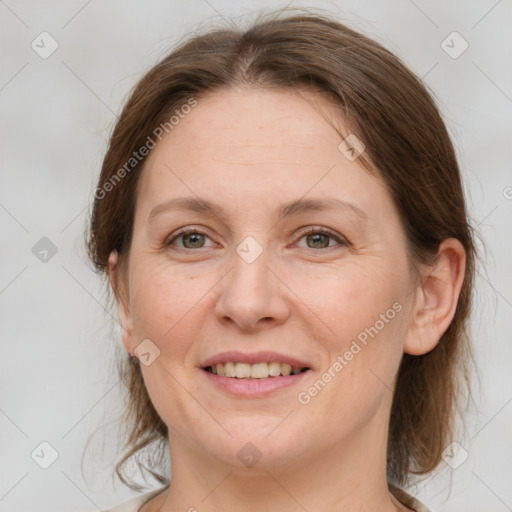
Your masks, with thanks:
[[(139, 343), (150, 339), (160, 350), (154, 364), (141, 366), (144, 382), (165, 423), (185, 430), (186, 420), (176, 411), (190, 407), (183, 383), (196, 371), (191, 347), (197, 341), (201, 317), (194, 308), (200, 307), (208, 287), (200, 287), (199, 279), (155, 264), (151, 258), (139, 270), (133, 273), (136, 286), (131, 297), (135, 335)], [(196, 421), (204, 420), (201, 411), (194, 414)]]

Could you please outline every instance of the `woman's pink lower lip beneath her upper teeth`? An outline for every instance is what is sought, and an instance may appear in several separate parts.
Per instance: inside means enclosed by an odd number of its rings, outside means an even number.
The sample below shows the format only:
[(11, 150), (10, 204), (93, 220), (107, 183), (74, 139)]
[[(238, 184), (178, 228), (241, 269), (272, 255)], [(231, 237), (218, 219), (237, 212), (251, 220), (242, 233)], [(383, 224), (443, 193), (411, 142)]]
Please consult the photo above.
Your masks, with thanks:
[(268, 396), (279, 389), (297, 384), (309, 375), (311, 370), (297, 373), (295, 375), (282, 375), (280, 377), (267, 377), (266, 379), (237, 379), (235, 377), (222, 377), (210, 373), (204, 369), (201, 371), (210, 379), (212, 384), (227, 393), (244, 397), (244, 398), (260, 398)]

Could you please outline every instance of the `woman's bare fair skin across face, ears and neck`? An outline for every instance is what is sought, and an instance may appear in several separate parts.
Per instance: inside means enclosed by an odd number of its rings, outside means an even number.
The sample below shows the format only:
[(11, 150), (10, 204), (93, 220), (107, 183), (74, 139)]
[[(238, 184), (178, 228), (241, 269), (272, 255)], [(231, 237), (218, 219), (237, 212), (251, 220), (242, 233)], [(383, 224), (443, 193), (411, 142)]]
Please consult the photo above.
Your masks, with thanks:
[[(307, 90), (218, 91), (198, 99), (146, 161), (127, 283), (110, 257), (126, 350), (144, 339), (160, 350), (141, 369), (169, 427), (172, 484), (143, 512), (409, 510), (386, 479), (393, 383), (403, 353), (432, 350), (453, 318), (464, 250), (445, 240), (435, 266), (411, 271), (389, 192), (338, 150), (320, 112), (336, 115)], [(147, 222), (156, 205), (189, 196), (221, 204), (226, 216), (168, 210)], [(328, 196), (366, 218), (273, 215), (284, 202)], [(173, 239), (182, 227), (206, 236)], [(308, 227), (347, 242), (308, 237)], [(247, 236), (262, 248), (252, 263), (235, 250)], [(396, 302), (401, 311), (378, 335), (299, 403), (297, 394)], [(313, 371), (270, 397), (229, 397), (198, 365), (232, 349), (284, 352)], [(237, 457), (247, 442), (262, 454), (252, 467)]]

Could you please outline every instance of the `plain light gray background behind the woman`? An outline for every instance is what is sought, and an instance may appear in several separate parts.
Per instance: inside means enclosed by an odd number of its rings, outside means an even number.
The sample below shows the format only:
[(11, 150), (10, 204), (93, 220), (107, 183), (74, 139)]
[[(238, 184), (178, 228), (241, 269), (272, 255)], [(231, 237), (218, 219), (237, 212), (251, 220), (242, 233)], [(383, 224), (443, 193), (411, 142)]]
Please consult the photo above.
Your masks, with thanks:
[[(86, 512), (132, 495), (110, 477), (119, 437), (111, 422), (122, 404), (113, 365), (119, 332), (83, 245), (115, 113), (142, 73), (198, 24), (247, 23), (248, 13), (287, 3), (0, 0), (1, 511)], [(315, 6), (373, 35), (435, 92), (486, 246), (473, 320), (477, 409), (460, 439), (469, 457), (457, 469), (443, 462), (410, 491), (435, 511), (512, 510), (512, 3)], [(44, 31), (58, 43), (46, 59), (31, 47), (51, 48)], [(458, 58), (441, 45), (453, 31), (469, 44)], [(456, 51), (463, 43), (449, 44)], [(81, 456), (100, 426), (84, 479)], [(42, 442), (58, 453), (48, 469), (39, 465), (51, 461)]]

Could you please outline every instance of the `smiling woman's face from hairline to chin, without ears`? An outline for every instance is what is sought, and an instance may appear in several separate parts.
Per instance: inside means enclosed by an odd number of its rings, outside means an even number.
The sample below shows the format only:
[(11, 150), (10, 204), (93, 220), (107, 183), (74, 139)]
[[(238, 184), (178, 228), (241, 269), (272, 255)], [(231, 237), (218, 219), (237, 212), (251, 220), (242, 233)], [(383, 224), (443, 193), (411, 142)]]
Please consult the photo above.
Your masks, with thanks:
[[(146, 161), (123, 342), (149, 340), (138, 355), (151, 400), (171, 443), (198, 457), (295, 464), (386, 439), (414, 297), (405, 235), (382, 182), (339, 149), (320, 110), (335, 116), (307, 91), (216, 92)], [(248, 387), (263, 379), (226, 389), (203, 366), (227, 351), (310, 370), (264, 379), (287, 380), (266, 394)]]

